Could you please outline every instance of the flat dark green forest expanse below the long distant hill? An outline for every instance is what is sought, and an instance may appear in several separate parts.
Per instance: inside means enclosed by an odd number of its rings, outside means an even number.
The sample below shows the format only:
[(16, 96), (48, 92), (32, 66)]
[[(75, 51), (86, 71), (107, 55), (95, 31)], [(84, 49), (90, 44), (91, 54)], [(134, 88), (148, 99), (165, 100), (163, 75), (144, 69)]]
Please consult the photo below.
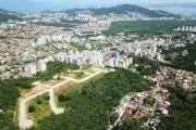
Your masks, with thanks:
[(110, 28), (103, 31), (107, 36), (124, 34), (137, 35), (168, 35), (181, 26), (196, 26), (196, 21), (131, 21), (113, 22)]

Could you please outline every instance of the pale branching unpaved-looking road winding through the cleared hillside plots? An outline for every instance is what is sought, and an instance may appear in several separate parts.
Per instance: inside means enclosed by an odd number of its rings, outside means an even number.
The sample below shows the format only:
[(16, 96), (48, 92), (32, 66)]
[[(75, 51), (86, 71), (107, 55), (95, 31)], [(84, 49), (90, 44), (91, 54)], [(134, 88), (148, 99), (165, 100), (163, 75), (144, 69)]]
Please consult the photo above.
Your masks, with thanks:
[[(102, 73), (102, 72), (105, 72), (105, 70), (100, 69), (99, 72), (97, 72), (97, 73), (95, 73), (95, 74), (90, 74), (88, 77), (86, 77), (86, 78), (84, 78), (84, 79), (82, 79), (82, 80), (77, 80), (77, 79), (74, 79), (74, 78), (65, 77), (65, 78), (68, 78), (66, 80), (64, 80), (64, 81), (62, 81), (62, 82), (60, 82), (60, 83), (58, 83), (58, 84), (54, 84), (54, 86), (50, 87), (49, 89), (47, 89), (47, 90), (45, 90), (45, 91), (41, 91), (41, 92), (36, 93), (36, 94), (34, 94), (34, 95), (32, 95), (32, 96), (29, 96), (29, 98), (24, 99), (24, 100), (20, 103), (20, 118), (19, 118), (20, 127), (21, 127), (22, 129), (25, 129), (25, 128), (29, 128), (29, 127), (33, 126), (33, 120), (32, 120), (32, 119), (26, 119), (26, 103), (27, 103), (29, 100), (32, 100), (32, 99), (34, 99), (34, 98), (37, 98), (38, 95), (41, 95), (41, 94), (44, 94), (45, 92), (49, 92), (49, 93), (50, 93), (50, 107), (51, 107), (52, 112), (53, 112), (54, 114), (61, 114), (61, 113), (64, 112), (64, 108), (57, 108), (56, 103), (54, 103), (54, 98), (53, 98), (53, 90), (54, 90), (56, 88), (58, 88), (58, 87), (60, 87), (60, 86), (62, 86), (62, 84), (71, 81), (71, 80), (76, 81), (76, 82), (86, 81), (86, 80), (90, 79), (91, 77), (94, 77), (94, 76), (96, 76), (96, 75), (98, 75), (98, 74), (100, 74), (100, 73)], [(36, 82), (36, 83), (37, 83), (37, 84), (40, 84), (39, 82)], [(44, 87), (46, 87), (46, 86), (44, 84)]]

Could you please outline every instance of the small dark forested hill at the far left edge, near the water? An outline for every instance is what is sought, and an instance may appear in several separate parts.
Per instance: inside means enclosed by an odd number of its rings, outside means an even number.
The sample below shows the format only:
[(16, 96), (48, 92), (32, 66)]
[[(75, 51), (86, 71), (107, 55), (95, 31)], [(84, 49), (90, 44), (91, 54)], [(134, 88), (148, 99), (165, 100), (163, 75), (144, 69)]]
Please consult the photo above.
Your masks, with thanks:
[(7, 11), (3, 9), (0, 9), (0, 22), (8, 22), (9, 20), (16, 20), (16, 21), (22, 21), (22, 15), (15, 12)]

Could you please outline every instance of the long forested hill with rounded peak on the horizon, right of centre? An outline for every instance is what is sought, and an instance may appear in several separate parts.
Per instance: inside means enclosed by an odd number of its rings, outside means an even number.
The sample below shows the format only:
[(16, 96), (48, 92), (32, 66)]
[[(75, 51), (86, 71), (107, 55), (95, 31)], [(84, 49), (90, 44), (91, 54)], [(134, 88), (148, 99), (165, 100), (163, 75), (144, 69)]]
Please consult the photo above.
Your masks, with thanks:
[(100, 8), (100, 9), (73, 9), (73, 10), (65, 10), (63, 12), (69, 13), (69, 14), (75, 14), (76, 12), (82, 12), (82, 11), (90, 11), (93, 12), (94, 15), (103, 15), (103, 14), (109, 14), (109, 13), (115, 13), (115, 14), (127, 14), (127, 12), (135, 12), (135, 13), (140, 13), (144, 15), (147, 15), (149, 17), (162, 17), (162, 16), (175, 16), (170, 13), (160, 13), (159, 11), (151, 11), (138, 5), (133, 5), (133, 4), (123, 4), (123, 5), (117, 5), (112, 8)]

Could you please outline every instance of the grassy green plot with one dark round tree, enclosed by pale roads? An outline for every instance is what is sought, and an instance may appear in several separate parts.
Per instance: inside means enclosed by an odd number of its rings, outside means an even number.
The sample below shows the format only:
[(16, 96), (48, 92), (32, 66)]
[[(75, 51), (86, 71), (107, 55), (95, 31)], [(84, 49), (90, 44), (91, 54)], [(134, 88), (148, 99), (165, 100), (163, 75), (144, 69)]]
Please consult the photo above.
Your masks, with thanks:
[[(44, 117), (47, 117), (51, 114), (49, 105), (49, 93), (44, 93), (27, 103), (27, 118), (33, 119), (34, 123), (37, 125), (38, 120), (41, 120)], [(39, 102), (39, 103), (38, 103)], [(28, 113), (28, 106), (34, 106), (35, 112)]]

